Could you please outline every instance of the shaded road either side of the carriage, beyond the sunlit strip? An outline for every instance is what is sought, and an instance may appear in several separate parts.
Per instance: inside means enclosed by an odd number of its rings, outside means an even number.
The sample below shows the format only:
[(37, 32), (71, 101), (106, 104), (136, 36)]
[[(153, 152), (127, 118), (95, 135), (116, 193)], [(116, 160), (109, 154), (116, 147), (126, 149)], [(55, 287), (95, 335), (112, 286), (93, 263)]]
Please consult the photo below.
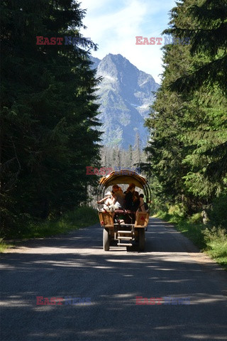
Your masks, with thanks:
[[(102, 227), (95, 224), (92, 227), (72, 231), (45, 239), (30, 239), (16, 243), (12, 251), (21, 249), (92, 249), (102, 250)], [(126, 247), (111, 247), (111, 251), (126, 252)], [(172, 224), (152, 218), (145, 232), (145, 252), (193, 252), (199, 249), (174, 228)]]

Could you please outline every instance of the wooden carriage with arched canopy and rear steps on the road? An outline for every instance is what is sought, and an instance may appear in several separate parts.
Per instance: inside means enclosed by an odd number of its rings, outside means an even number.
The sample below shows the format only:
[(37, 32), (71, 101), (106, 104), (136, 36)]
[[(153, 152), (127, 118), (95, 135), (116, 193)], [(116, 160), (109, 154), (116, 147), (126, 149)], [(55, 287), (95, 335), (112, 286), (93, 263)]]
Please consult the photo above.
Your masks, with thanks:
[[(150, 202), (150, 187), (143, 176), (133, 171), (115, 171), (101, 178), (97, 191), (97, 201), (104, 197), (109, 186), (135, 183), (142, 189), (147, 202)], [(111, 245), (126, 247), (127, 251), (144, 251), (145, 230), (148, 228), (149, 212), (128, 212), (127, 210), (115, 210), (107, 212), (98, 205), (99, 220), (103, 227), (103, 247), (109, 251)]]

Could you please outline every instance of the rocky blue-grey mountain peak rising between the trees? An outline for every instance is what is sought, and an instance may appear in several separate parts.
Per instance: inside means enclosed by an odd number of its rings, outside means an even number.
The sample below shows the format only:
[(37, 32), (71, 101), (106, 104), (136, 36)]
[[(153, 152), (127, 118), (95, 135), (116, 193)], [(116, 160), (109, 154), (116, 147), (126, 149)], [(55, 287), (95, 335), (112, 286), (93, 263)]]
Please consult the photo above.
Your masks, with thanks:
[(99, 119), (104, 124), (103, 143), (128, 148), (135, 144), (135, 135), (139, 134), (141, 147), (145, 147), (148, 129), (144, 119), (159, 85), (152, 75), (138, 70), (121, 54), (109, 53), (99, 63), (92, 61), (96, 64), (96, 75), (103, 79), (97, 92), (101, 103)]

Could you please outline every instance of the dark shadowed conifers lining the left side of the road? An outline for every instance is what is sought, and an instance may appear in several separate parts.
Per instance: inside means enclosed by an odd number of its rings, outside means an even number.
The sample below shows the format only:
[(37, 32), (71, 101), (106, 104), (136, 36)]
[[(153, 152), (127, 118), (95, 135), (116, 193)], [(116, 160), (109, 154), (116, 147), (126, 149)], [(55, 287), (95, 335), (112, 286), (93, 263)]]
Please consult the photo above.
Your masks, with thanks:
[[(99, 80), (77, 1), (1, 1), (1, 17), (1, 210), (9, 228), (87, 201), (96, 180), (85, 167), (99, 165)], [(77, 36), (83, 48), (36, 45), (36, 36)]]

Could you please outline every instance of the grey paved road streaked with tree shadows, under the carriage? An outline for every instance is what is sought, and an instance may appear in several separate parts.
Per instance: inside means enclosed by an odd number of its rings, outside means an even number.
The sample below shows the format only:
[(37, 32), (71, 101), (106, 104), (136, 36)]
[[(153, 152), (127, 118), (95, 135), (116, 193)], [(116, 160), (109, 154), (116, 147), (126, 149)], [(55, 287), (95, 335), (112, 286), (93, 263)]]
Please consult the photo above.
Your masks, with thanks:
[[(95, 225), (4, 254), (1, 341), (227, 340), (226, 272), (170, 224), (151, 219), (143, 253), (101, 243)], [(36, 305), (36, 296), (91, 304)], [(137, 305), (136, 296), (190, 304)]]

